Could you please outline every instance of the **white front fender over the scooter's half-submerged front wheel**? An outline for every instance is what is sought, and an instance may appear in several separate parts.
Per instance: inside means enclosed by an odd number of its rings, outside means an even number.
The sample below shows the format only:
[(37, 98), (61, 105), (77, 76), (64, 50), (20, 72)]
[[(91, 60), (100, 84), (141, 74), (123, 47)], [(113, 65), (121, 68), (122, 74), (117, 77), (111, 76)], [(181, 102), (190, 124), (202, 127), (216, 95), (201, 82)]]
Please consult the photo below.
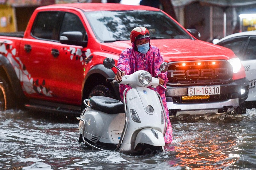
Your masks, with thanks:
[(163, 134), (160, 131), (152, 128), (145, 128), (140, 130), (136, 137), (134, 148), (136, 148), (139, 143), (149, 144), (153, 146), (165, 145)]

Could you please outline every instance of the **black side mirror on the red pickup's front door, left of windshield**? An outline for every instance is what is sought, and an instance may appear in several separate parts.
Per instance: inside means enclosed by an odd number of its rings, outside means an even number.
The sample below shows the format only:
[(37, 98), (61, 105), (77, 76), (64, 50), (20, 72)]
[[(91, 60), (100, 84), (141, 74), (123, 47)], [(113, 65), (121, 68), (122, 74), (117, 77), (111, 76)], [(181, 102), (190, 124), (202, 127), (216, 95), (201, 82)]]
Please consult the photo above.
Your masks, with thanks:
[(67, 31), (60, 35), (60, 43), (68, 45), (87, 46), (88, 41), (84, 41), (83, 33), (80, 31)]

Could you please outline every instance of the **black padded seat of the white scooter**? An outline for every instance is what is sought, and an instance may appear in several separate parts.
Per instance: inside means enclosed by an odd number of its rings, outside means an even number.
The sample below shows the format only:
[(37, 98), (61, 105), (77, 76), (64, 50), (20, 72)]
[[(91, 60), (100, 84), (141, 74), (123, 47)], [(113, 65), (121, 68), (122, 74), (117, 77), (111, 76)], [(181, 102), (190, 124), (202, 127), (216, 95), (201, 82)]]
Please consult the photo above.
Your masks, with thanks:
[(92, 96), (90, 107), (108, 114), (124, 113), (124, 104), (121, 101), (105, 96)]

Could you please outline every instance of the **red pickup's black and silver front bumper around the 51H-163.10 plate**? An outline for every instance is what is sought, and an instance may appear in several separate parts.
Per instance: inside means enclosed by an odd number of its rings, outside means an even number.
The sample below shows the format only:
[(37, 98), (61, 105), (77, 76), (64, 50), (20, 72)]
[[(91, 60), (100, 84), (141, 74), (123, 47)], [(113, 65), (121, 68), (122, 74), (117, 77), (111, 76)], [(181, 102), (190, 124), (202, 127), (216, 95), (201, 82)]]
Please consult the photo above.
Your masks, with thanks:
[[(191, 85), (196, 86), (196, 85)], [(211, 84), (212, 86), (212, 84)], [(208, 100), (186, 100), (188, 87), (170, 87), (165, 92), (170, 116), (204, 115), (228, 113), (243, 103), (248, 97), (249, 81), (247, 78), (235, 80), (230, 84), (219, 85), (220, 95), (211, 96)]]

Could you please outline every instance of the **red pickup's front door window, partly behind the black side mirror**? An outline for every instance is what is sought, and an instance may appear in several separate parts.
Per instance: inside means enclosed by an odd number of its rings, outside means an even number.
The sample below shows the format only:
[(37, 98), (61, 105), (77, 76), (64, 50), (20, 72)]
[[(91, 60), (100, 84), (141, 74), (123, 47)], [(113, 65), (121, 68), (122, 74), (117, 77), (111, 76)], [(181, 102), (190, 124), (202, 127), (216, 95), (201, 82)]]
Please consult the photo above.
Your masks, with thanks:
[(86, 33), (84, 29), (84, 25), (80, 20), (80, 18), (75, 14), (72, 14), (69, 12), (66, 12), (64, 15), (62, 25), (60, 28), (59, 39), (60, 39), (60, 35), (66, 31), (80, 31), (81, 33), (83, 33), (84, 37)]

